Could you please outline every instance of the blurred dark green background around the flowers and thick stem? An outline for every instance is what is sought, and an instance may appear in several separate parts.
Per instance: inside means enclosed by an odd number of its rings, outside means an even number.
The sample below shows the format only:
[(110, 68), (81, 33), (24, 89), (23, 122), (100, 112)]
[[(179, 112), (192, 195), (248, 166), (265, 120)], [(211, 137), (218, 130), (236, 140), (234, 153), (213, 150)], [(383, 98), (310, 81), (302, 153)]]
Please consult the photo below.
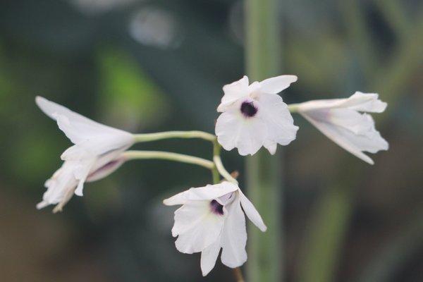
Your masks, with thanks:
[[(390, 143), (369, 166), (294, 116), (286, 281), (423, 281), (422, 1), (281, 2), (283, 73), (299, 77), (285, 101), (378, 92)], [(161, 204), (210, 183), (202, 168), (133, 161), (62, 214), (37, 211), (70, 142), (34, 98), (133, 133), (212, 132), (222, 85), (244, 74), (243, 38), (243, 1), (1, 1), (0, 280), (233, 281), (220, 262), (201, 278)], [(198, 140), (136, 147), (211, 156)], [(223, 159), (242, 178), (243, 158)]]

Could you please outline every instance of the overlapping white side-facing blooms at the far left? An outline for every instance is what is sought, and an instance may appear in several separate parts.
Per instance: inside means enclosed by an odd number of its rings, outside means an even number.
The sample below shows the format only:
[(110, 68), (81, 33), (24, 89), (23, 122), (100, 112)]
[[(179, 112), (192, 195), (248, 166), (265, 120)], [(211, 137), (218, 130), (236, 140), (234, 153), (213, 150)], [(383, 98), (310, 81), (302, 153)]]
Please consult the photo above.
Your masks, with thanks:
[(82, 196), (86, 181), (104, 178), (121, 166), (125, 161), (121, 154), (133, 145), (134, 138), (130, 133), (92, 121), (43, 97), (37, 97), (35, 102), (75, 144), (61, 155), (64, 163), (46, 181), (47, 191), (37, 204), (38, 209), (59, 204), (55, 209), (58, 211), (73, 193)]

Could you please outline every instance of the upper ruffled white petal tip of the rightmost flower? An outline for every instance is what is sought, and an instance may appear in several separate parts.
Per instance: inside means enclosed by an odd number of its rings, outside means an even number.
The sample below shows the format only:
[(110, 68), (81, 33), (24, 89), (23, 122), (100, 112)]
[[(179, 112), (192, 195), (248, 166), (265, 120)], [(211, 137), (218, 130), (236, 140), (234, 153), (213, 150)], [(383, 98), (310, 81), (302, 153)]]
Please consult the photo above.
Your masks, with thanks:
[(385, 111), (387, 104), (381, 102), (379, 95), (376, 93), (362, 93), (357, 91), (351, 97), (345, 99), (345, 102), (341, 106), (356, 111), (381, 113)]

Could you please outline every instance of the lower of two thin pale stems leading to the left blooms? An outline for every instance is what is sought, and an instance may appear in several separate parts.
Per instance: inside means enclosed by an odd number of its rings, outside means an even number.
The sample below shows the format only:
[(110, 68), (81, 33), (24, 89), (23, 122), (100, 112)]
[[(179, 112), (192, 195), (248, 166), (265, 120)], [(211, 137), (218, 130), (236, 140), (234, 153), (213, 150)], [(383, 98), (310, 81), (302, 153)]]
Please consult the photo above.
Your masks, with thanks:
[(168, 161), (179, 161), (185, 164), (196, 164), (204, 168), (213, 169), (213, 161), (202, 159), (199, 157), (192, 157), (186, 154), (177, 154), (173, 152), (160, 152), (160, 151), (126, 151), (122, 154), (127, 160), (130, 159), (166, 159)]

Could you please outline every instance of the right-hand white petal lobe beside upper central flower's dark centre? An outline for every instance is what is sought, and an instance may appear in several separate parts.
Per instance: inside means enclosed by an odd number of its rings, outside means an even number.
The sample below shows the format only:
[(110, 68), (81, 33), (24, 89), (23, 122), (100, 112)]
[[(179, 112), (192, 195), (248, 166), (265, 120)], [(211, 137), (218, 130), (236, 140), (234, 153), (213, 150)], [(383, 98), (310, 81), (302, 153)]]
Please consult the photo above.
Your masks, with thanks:
[(257, 98), (259, 104), (258, 118), (267, 125), (267, 137), (264, 145), (272, 154), (274, 142), (280, 145), (288, 145), (295, 140), (298, 126), (294, 125), (288, 106), (283, 102), (281, 96), (277, 94), (261, 94)]

